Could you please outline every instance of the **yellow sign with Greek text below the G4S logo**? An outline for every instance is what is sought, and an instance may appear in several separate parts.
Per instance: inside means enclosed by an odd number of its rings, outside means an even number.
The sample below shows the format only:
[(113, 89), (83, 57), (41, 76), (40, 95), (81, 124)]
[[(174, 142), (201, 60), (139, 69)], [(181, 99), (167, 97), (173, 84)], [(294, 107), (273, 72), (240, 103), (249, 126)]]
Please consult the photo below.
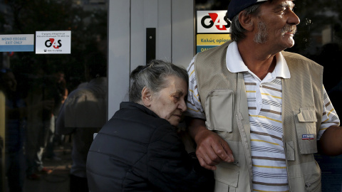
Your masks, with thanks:
[(203, 52), (230, 41), (229, 34), (197, 34), (196, 53)]

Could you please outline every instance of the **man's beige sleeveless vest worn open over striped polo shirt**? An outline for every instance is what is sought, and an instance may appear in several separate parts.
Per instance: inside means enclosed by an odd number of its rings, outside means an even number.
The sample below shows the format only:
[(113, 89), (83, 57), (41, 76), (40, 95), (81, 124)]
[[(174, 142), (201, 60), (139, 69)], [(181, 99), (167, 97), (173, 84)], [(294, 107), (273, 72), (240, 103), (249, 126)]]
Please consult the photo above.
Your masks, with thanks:
[[(197, 54), (195, 73), (207, 128), (233, 151), (234, 163), (215, 171), (215, 191), (252, 191), (249, 113), (242, 73), (226, 66), (228, 43)], [(282, 124), (290, 191), (321, 191), (321, 169), (314, 159), (323, 114), (323, 67), (301, 55), (282, 52), (291, 78), (282, 79)], [(314, 139), (302, 137), (314, 135)]]

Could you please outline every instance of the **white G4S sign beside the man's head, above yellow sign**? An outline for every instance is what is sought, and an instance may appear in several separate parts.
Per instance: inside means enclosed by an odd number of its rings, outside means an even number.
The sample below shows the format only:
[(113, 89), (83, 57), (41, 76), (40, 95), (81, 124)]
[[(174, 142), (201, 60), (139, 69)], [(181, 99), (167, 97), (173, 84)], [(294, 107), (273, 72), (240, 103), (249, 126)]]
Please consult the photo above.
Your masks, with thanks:
[(229, 33), (230, 21), (224, 11), (197, 11), (197, 33)]

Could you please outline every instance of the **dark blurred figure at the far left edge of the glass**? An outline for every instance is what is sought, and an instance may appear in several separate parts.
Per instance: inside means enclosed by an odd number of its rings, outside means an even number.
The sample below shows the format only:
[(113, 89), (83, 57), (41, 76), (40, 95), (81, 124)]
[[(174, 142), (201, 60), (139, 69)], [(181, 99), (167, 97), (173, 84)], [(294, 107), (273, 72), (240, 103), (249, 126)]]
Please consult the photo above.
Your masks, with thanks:
[(25, 180), (24, 140), (27, 109), (16, 85), (16, 78), (11, 69), (0, 69), (0, 90), (6, 97), (5, 161), (10, 192), (23, 191)]

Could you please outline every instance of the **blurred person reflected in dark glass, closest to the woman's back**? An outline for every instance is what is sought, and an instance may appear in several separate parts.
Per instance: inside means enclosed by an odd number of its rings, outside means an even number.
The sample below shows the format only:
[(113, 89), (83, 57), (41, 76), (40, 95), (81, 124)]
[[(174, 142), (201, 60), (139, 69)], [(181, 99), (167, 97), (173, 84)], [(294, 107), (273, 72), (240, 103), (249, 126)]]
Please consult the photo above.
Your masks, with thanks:
[(70, 171), (70, 191), (88, 192), (86, 159), (93, 134), (107, 122), (107, 61), (103, 54), (87, 56), (86, 76), (90, 80), (73, 90), (61, 107), (56, 121), (57, 134), (72, 137), (73, 164)]

